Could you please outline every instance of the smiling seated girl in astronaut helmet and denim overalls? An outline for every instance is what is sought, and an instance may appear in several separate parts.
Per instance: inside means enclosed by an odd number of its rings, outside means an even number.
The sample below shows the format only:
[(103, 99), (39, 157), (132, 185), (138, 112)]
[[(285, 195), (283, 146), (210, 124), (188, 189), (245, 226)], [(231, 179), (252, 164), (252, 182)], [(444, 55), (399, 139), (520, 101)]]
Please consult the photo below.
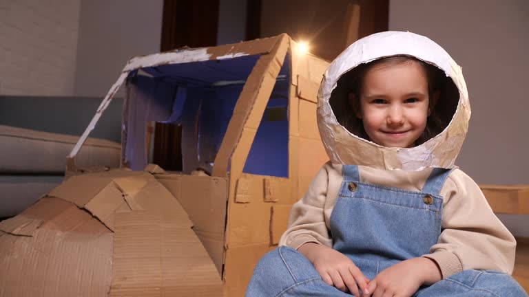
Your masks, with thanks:
[(461, 69), (430, 39), (353, 43), (318, 94), (331, 162), (247, 296), (527, 296), (509, 276), (514, 237), (453, 165), (469, 118)]

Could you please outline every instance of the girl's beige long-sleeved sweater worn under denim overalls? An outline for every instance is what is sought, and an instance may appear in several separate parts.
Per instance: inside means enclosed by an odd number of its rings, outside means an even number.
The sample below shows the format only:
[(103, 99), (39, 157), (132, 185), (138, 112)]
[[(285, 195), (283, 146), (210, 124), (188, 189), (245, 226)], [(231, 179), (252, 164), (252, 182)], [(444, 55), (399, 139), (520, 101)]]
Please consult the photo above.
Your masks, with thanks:
[[(360, 179), (369, 184), (419, 191), (431, 168), (422, 171), (380, 170), (359, 166)], [(331, 247), (329, 223), (340, 185), (342, 166), (325, 164), (304, 197), (295, 203), (289, 228), (280, 245), (298, 249), (307, 242)], [(440, 192), (444, 197), (442, 233), (424, 255), (435, 261), (448, 278), (462, 270), (497, 270), (512, 274), (515, 238), (490, 209), (479, 186), (459, 169), (453, 170)]]

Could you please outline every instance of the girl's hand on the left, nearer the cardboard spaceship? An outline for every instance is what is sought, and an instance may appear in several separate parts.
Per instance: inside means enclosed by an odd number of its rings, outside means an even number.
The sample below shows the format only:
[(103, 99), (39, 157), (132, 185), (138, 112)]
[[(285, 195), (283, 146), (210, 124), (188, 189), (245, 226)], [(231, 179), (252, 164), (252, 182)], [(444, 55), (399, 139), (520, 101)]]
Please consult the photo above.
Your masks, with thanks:
[(298, 248), (298, 252), (311, 261), (328, 285), (335, 286), (342, 292), (349, 289), (351, 294), (358, 297), (363, 295), (358, 292), (358, 287), (364, 294), (369, 294), (367, 290), (369, 278), (366, 278), (353, 261), (344, 254), (318, 243), (305, 243)]

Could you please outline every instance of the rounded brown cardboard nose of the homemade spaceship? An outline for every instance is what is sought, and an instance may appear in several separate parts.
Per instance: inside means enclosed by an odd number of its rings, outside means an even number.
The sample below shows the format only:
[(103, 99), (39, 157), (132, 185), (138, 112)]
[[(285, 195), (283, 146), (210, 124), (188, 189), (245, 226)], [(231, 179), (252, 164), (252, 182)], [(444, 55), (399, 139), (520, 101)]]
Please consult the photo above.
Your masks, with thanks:
[(0, 295), (222, 296), (191, 225), (147, 172), (71, 177), (0, 222)]

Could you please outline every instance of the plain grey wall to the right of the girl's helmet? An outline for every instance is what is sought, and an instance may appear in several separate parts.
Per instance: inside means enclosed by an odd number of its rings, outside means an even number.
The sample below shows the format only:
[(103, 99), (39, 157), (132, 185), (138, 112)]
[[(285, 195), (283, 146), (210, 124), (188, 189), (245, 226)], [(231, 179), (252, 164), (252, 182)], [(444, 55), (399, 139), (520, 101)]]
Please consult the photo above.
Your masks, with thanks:
[[(529, 1), (391, 0), (389, 29), (424, 34), (463, 67), (472, 118), (457, 164), (483, 184), (529, 184)], [(528, 216), (501, 216), (529, 236)]]

